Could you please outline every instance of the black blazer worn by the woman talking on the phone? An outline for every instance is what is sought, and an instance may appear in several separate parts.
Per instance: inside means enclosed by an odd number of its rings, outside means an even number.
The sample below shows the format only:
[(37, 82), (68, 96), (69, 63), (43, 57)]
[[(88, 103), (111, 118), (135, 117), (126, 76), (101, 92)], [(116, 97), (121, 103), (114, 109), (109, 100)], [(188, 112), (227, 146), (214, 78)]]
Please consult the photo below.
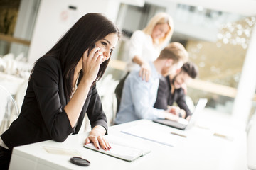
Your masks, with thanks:
[(75, 128), (64, 111), (68, 101), (60, 62), (55, 57), (41, 57), (28, 81), (21, 113), (1, 135), (2, 140), (9, 149), (43, 140), (63, 142), (71, 133), (78, 133), (85, 113), (92, 128), (102, 125), (107, 131), (107, 118), (96, 86), (90, 89)]

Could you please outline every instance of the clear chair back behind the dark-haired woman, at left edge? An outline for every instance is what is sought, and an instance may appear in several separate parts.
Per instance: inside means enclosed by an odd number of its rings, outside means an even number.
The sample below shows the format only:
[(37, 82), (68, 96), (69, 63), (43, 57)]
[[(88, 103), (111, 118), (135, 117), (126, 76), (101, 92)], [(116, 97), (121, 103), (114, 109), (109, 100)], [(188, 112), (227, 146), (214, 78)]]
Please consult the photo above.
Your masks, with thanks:
[(18, 107), (13, 96), (0, 85), (0, 135), (18, 118)]

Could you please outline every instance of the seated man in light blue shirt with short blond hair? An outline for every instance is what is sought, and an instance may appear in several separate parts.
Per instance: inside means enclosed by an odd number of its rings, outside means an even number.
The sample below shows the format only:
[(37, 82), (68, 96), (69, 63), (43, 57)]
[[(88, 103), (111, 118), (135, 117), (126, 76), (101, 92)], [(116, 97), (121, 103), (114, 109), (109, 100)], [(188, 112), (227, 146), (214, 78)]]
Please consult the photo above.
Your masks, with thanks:
[(171, 42), (154, 62), (149, 62), (151, 77), (149, 81), (142, 80), (139, 71), (131, 72), (124, 81), (120, 108), (115, 120), (116, 124), (133, 120), (166, 118), (178, 120), (178, 116), (164, 109), (154, 108), (159, 78), (175, 74), (184, 62), (188, 60), (188, 52), (178, 42)]

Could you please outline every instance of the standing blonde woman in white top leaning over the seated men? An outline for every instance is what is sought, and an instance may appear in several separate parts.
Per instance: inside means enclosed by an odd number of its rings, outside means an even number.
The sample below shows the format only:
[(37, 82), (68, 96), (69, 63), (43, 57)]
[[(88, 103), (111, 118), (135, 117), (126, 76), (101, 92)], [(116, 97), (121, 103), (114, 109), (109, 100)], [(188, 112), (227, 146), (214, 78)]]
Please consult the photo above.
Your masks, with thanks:
[(119, 81), (115, 93), (117, 96), (117, 111), (122, 97), (124, 80), (129, 72), (140, 70), (139, 75), (142, 79), (149, 81), (151, 69), (149, 62), (153, 62), (159, 57), (161, 48), (170, 41), (174, 33), (174, 23), (167, 13), (156, 13), (151, 18), (146, 28), (136, 30), (129, 40), (129, 61), (127, 63), (127, 74)]

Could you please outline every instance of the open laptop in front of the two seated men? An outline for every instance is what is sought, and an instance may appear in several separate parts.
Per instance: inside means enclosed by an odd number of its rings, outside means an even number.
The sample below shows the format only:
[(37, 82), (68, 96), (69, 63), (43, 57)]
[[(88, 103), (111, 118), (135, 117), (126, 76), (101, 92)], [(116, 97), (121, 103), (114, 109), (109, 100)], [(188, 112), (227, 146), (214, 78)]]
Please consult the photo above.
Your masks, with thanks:
[(185, 119), (180, 119), (178, 121), (173, 120), (167, 120), (167, 119), (154, 119), (154, 123), (160, 123), (162, 125), (168, 125), (172, 128), (177, 128), (180, 130), (188, 130), (191, 128), (198, 118), (198, 115), (200, 115), (201, 111), (203, 111), (203, 108), (206, 107), (207, 98), (199, 98), (198, 103), (196, 104), (196, 107), (191, 115), (191, 119), (189, 121)]

